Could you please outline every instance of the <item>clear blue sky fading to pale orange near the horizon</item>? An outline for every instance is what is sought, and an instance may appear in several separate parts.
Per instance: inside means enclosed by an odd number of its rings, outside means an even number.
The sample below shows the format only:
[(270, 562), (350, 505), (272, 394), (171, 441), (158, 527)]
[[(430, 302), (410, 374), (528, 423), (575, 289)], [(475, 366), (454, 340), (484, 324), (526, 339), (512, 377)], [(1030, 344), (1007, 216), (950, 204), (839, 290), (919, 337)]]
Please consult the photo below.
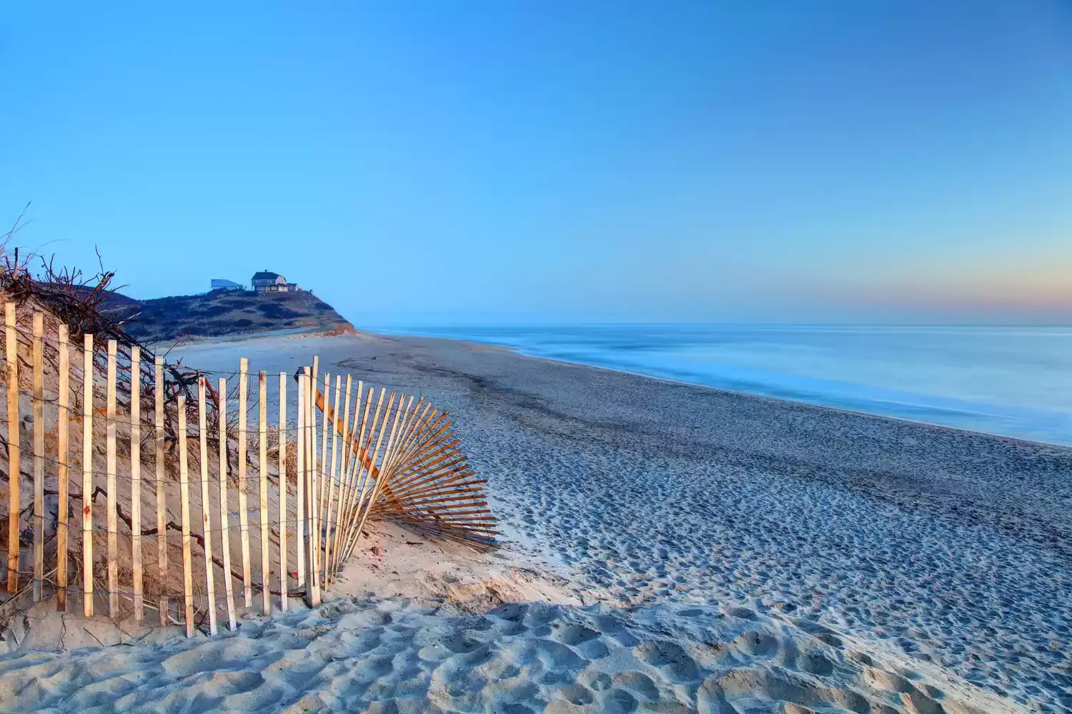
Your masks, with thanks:
[(357, 324), (1072, 319), (1072, 3), (5, 3), (0, 219)]

